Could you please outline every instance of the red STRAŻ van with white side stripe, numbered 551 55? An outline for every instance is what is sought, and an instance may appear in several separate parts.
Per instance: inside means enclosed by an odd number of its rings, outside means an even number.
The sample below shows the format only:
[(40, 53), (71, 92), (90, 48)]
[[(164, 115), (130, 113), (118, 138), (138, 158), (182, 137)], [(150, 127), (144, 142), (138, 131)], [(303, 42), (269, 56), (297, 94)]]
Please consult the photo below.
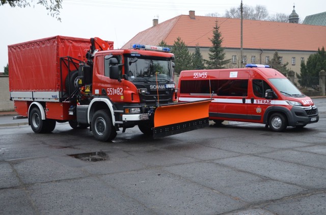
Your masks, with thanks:
[(318, 122), (318, 109), (282, 73), (268, 65), (181, 71), (179, 101), (212, 98), (209, 119), (263, 123), (273, 131)]

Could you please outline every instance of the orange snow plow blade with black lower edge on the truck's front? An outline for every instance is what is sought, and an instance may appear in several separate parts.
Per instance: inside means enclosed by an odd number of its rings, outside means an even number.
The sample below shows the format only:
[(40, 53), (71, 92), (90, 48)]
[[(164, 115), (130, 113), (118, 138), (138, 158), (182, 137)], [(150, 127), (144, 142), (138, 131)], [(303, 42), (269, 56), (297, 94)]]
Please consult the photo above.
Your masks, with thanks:
[(153, 138), (161, 138), (208, 126), (211, 99), (161, 105), (154, 114)]

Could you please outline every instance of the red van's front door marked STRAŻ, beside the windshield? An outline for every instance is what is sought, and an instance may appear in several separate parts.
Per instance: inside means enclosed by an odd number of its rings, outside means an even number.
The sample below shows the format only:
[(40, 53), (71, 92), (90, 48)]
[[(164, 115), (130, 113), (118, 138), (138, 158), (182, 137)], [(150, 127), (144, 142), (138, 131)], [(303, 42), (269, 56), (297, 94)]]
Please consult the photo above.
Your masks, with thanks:
[(262, 79), (252, 79), (249, 89), (248, 119), (262, 122), (265, 110), (272, 105), (271, 100), (265, 98), (266, 90), (271, 90), (271, 87)]

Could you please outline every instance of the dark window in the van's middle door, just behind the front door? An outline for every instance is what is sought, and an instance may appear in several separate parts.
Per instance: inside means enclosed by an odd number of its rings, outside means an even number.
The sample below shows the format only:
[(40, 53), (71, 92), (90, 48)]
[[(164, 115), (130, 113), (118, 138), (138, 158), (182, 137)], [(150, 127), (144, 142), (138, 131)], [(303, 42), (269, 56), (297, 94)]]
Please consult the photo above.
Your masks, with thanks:
[(247, 96), (248, 79), (219, 80), (219, 88), (217, 93), (219, 96)]

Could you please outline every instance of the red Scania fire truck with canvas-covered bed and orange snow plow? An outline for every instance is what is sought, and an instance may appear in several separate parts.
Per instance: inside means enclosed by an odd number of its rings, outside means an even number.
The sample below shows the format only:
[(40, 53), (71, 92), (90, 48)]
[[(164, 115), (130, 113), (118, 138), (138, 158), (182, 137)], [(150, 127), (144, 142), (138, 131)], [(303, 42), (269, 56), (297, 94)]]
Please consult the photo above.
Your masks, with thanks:
[(9, 90), (18, 118), (36, 133), (57, 122), (87, 128), (97, 140), (139, 126), (154, 138), (208, 125), (211, 100), (176, 103), (168, 48), (113, 49), (99, 38), (55, 36), (8, 46)]

